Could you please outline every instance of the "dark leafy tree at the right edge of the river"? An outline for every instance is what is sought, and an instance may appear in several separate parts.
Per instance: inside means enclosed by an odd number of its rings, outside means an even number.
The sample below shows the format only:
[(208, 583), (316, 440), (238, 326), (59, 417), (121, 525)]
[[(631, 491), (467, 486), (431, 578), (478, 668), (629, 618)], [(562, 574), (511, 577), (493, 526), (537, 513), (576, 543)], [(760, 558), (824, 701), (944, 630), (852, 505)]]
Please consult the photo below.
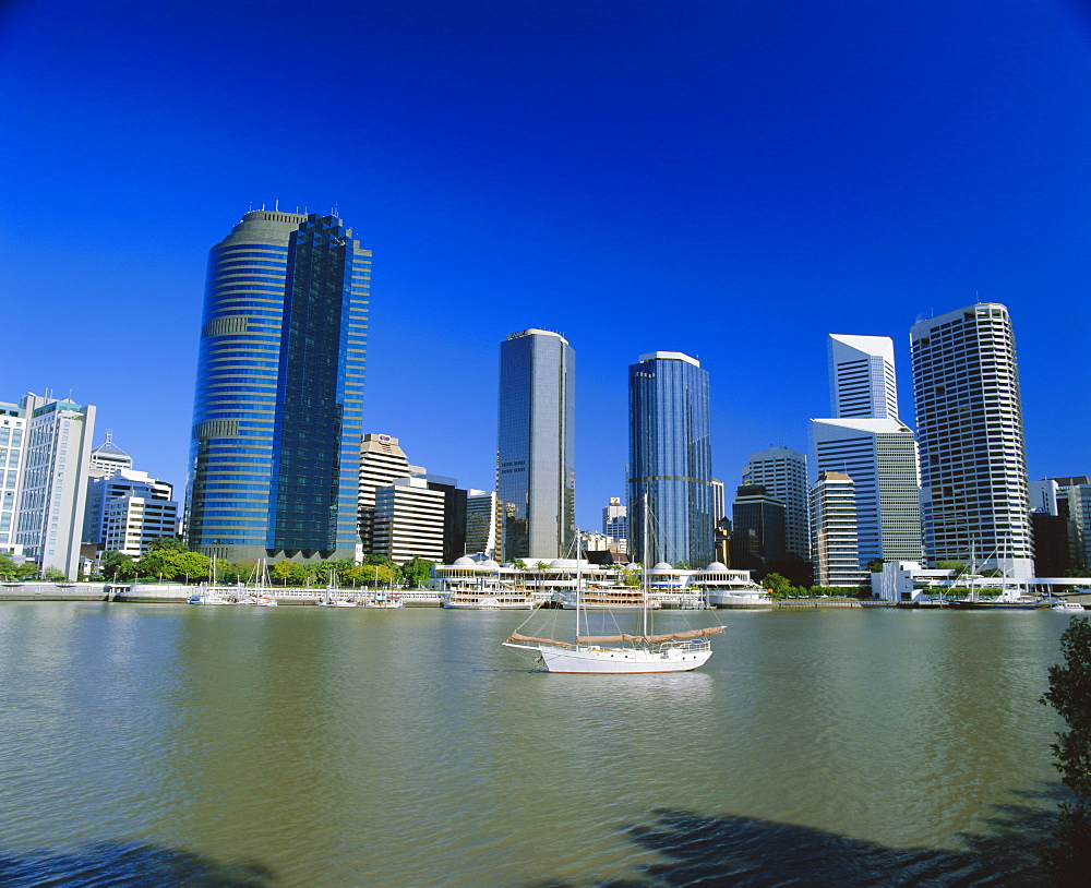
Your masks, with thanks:
[(1054, 885), (1087, 884), (1091, 872), (1091, 626), (1072, 620), (1060, 636), (1064, 665), (1050, 667), (1050, 689), (1041, 703), (1057, 710), (1067, 731), (1052, 744), (1062, 782), (1075, 802), (1062, 802), (1055, 842), (1042, 850), (1042, 865)]

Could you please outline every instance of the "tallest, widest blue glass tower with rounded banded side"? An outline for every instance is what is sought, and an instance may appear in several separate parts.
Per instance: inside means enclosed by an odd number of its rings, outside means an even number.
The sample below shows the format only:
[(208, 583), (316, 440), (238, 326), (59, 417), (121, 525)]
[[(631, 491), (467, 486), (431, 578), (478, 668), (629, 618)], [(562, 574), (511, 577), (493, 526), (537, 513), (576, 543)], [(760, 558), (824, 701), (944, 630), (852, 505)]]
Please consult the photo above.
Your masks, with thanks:
[(247, 213), (208, 257), (190, 545), (352, 557), (371, 251), (334, 216)]

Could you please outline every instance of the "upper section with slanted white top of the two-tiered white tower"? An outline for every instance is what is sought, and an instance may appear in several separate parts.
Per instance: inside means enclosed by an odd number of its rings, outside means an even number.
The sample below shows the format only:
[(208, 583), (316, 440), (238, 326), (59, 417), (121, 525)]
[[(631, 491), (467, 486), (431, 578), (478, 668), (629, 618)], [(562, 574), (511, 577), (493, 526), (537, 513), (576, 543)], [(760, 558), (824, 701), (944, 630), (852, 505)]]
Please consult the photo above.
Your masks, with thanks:
[(835, 417), (898, 418), (894, 340), (830, 334), (829, 400)]

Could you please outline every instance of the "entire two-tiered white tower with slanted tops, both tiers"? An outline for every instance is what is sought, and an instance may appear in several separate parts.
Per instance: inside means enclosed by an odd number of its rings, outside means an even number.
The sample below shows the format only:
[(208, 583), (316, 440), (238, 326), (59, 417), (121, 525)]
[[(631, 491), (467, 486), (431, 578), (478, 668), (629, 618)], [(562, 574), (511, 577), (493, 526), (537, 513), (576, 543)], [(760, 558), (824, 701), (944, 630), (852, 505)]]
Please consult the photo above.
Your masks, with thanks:
[(860, 566), (920, 561), (916, 441), (898, 419), (894, 341), (887, 336), (830, 335), (832, 419), (811, 420), (816, 472), (852, 478)]

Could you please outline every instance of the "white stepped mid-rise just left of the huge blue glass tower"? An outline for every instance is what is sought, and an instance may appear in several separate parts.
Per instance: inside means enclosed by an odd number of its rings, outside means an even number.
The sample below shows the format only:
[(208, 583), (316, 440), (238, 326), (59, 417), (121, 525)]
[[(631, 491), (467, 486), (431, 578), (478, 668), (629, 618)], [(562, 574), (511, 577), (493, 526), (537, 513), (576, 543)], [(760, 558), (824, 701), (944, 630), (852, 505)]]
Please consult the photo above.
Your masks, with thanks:
[(84, 542), (100, 551), (139, 556), (153, 540), (177, 533), (173, 492), (171, 484), (135, 469), (115, 469), (109, 477), (89, 479)]

